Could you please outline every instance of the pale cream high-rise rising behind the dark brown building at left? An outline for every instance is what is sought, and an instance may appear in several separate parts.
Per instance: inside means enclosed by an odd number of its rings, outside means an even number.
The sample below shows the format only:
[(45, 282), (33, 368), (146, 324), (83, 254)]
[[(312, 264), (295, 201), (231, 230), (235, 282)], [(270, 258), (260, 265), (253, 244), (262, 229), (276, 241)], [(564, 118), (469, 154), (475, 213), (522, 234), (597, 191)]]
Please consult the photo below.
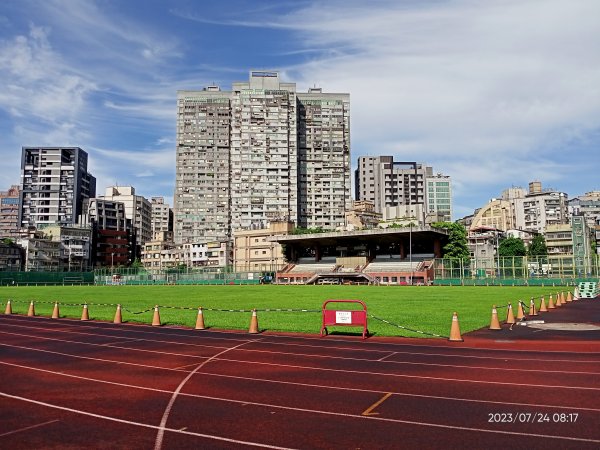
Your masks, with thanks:
[(133, 186), (109, 186), (98, 198), (125, 205), (125, 218), (131, 220), (135, 232), (137, 249), (134, 257), (138, 258), (144, 243), (152, 239), (152, 204), (145, 197), (136, 195)]

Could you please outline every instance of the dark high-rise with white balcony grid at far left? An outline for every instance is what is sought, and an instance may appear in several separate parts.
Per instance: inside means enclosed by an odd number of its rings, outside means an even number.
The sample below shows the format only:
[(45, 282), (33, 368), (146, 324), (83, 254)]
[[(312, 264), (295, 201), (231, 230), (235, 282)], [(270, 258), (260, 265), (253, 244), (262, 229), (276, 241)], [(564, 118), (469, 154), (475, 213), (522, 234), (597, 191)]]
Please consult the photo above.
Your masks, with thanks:
[(96, 195), (79, 147), (23, 147), (19, 227), (77, 223), (83, 200)]

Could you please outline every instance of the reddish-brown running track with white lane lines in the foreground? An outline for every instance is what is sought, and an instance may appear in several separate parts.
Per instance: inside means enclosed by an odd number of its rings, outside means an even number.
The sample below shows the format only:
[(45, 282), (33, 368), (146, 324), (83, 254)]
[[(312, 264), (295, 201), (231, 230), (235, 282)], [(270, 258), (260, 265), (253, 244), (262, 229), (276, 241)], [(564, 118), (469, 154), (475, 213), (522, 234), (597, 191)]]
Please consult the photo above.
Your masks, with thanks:
[[(600, 300), (544, 314), (599, 316)], [(459, 343), (361, 341), (2, 315), (0, 442), (598, 449), (595, 333), (515, 326)]]

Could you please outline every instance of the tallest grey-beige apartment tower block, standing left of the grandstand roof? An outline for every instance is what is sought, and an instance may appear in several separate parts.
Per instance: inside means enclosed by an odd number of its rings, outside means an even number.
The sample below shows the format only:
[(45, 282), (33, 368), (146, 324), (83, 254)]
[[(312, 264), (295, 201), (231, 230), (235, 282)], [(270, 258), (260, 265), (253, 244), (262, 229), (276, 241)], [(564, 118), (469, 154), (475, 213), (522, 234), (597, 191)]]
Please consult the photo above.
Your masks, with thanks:
[(349, 95), (297, 93), (253, 71), (231, 91), (177, 94), (174, 234), (231, 241), (273, 220), (334, 229), (350, 207)]

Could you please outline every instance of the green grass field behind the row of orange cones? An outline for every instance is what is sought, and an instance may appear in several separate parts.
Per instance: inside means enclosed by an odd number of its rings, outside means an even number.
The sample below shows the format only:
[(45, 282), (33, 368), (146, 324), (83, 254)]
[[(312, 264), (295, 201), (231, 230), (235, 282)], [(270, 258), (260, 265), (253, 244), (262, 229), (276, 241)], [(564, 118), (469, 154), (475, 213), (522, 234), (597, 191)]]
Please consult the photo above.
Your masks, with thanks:
[[(194, 327), (199, 306), (204, 308), (207, 327), (248, 329), (249, 312), (211, 311), (210, 309), (250, 310), (257, 308), (259, 328), (269, 331), (318, 333), (321, 306), (328, 299), (362, 300), (368, 314), (413, 330), (448, 336), (452, 312), (459, 314), (462, 333), (489, 325), (491, 307), (517, 301), (529, 305), (534, 297), (556, 295), (561, 287), (457, 287), (457, 286), (57, 286), (2, 287), (2, 311), (12, 300), (16, 314), (26, 314), (31, 300), (36, 315), (50, 316), (53, 303), (59, 302), (61, 317), (81, 317), (81, 304), (89, 305), (92, 320), (112, 321), (115, 304), (124, 308), (123, 321), (150, 324), (153, 311), (142, 314), (155, 304), (192, 309), (161, 308), (163, 324)], [(71, 304), (72, 306), (70, 306)], [(100, 304), (110, 304), (102, 306)], [(261, 309), (310, 309), (318, 312), (274, 312)], [(348, 309), (347, 306), (335, 309)], [(516, 312), (516, 309), (515, 309)], [(505, 318), (506, 309), (498, 315)], [(355, 332), (358, 328), (336, 327), (330, 332)], [(377, 336), (423, 337), (369, 317), (369, 331)]]

